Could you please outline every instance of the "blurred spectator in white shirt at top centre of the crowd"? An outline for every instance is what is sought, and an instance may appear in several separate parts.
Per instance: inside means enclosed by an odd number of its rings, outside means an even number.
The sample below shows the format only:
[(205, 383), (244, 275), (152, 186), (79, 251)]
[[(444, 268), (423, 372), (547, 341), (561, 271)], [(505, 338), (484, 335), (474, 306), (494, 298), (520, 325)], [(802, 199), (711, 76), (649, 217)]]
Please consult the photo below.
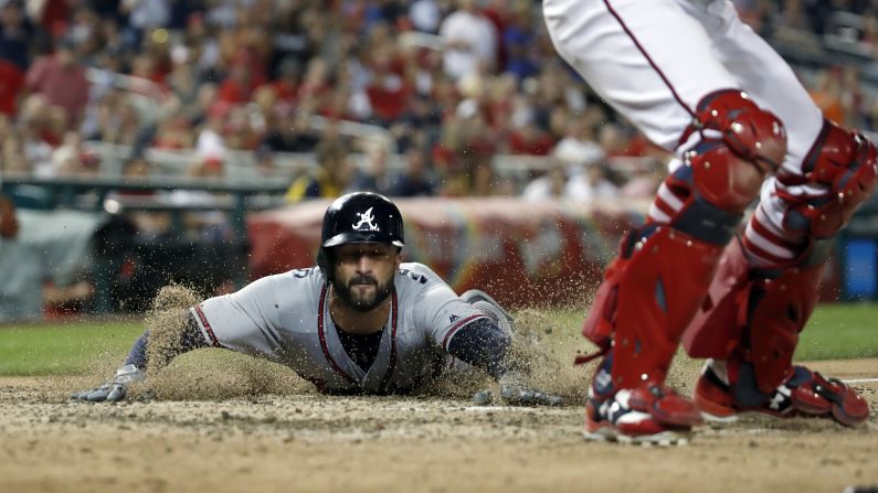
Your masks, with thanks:
[(457, 0), (457, 10), (440, 25), (445, 46), (445, 73), (458, 79), (491, 73), (497, 62), (497, 31), (476, 8), (476, 0)]

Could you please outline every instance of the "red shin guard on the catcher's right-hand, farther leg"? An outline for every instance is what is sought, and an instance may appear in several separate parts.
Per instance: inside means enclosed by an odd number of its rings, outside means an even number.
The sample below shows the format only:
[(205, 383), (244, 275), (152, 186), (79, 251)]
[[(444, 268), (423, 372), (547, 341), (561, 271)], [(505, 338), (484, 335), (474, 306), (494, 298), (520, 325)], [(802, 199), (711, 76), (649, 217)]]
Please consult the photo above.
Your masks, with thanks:
[(769, 395), (793, 372), (798, 334), (817, 304), (817, 287), (831, 244), (814, 248), (798, 267), (755, 270), (739, 242), (723, 251), (717, 275), (683, 336), (692, 357), (752, 364)]

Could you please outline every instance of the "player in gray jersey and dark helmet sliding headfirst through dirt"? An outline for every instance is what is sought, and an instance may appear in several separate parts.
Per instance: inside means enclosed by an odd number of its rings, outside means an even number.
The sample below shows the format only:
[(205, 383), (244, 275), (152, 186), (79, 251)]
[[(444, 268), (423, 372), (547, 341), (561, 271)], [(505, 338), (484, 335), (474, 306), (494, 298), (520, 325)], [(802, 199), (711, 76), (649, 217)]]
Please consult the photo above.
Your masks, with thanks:
[(189, 308), (178, 333), (162, 334), (170, 347), (152, 351), (147, 331), (109, 382), (73, 397), (119, 400), (148, 363), (159, 368), (214, 346), (289, 366), (326, 393), (405, 393), (468, 364), (499, 381), (507, 404), (560, 404), (509, 368), (511, 318), (496, 301), (478, 290), (458, 297), (426, 266), (401, 262), (402, 248), (403, 221), (391, 201), (345, 195), (324, 216), (316, 267)]

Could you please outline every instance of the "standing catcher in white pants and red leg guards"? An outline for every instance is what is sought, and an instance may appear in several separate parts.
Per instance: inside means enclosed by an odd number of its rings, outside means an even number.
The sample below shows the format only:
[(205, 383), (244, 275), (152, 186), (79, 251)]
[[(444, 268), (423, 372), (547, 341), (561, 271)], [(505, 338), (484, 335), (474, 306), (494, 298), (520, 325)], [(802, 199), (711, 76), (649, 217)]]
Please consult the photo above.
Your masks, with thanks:
[[(866, 420), (854, 389), (792, 361), (833, 238), (875, 189), (875, 146), (823, 118), (728, 0), (544, 0), (543, 14), (560, 55), (678, 157), (585, 321), (603, 356), (585, 437), (678, 442), (744, 411)], [(665, 385), (681, 340), (709, 358), (694, 401)]]

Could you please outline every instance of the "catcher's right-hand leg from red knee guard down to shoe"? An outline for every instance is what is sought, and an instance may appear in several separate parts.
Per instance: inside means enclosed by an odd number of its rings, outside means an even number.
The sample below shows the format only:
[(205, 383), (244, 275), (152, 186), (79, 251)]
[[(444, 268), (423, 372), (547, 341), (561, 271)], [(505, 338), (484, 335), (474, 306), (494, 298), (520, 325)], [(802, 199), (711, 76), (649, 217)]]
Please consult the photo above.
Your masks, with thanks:
[(868, 199), (876, 174), (875, 147), (826, 121), (802, 175), (769, 183), (684, 336), (691, 356), (712, 358), (696, 388), (706, 416), (803, 412), (845, 425), (868, 417), (855, 390), (792, 361), (832, 238)]

